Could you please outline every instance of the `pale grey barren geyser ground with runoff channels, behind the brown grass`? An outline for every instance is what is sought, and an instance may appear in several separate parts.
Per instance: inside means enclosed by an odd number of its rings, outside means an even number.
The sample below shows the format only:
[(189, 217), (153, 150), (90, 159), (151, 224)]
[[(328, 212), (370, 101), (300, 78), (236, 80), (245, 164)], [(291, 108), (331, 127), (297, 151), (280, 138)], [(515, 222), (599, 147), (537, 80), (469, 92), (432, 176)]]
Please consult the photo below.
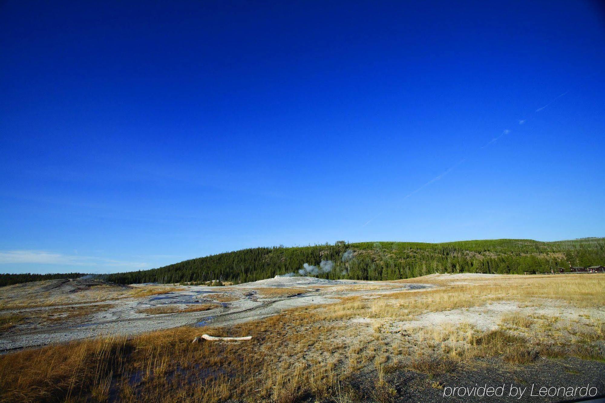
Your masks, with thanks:
[[(178, 326), (227, 326), (276, 315), (284, 309), (338, 302), (334, 297), (381, 295), (429, 284), (279, 277), (229, 287), (48, 280), (1, 289), (0, 352), (101, 335), (132, 336)], [(198, 304), (214, 309), (186, 312)], [(175, 312), (149, 314), (169, 306)], [(168, 310), (168, 309), (166, 309)], [(181, 311), (181, 312), (179, 312)]]

